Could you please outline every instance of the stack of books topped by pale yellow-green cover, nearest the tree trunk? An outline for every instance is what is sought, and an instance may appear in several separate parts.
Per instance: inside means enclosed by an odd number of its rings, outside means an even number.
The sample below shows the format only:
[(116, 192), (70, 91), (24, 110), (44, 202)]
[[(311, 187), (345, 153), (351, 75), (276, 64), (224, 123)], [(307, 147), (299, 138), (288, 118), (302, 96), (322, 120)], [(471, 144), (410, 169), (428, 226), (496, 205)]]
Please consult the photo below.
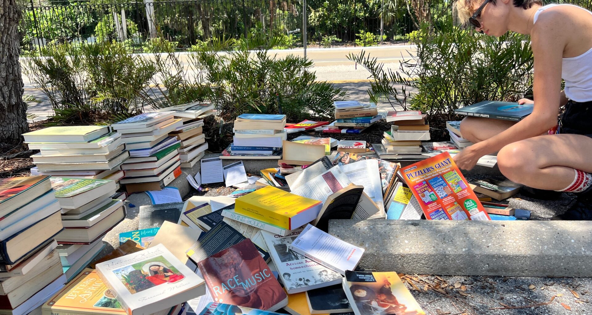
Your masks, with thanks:
[(129, 157), (118, 132), (108, 126), (56, 126), (22, 135), (36, 167), (31, 175), (120, 180)]

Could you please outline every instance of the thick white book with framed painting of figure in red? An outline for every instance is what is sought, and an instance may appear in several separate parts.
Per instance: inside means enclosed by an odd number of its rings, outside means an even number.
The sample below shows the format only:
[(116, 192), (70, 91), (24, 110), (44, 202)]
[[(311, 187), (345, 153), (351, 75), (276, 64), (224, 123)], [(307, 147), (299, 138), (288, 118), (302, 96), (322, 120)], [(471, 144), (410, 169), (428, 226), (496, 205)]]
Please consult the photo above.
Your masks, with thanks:
[(205, 294), (204, 280), (165, 245), (96, 264), (127, 315), (149, 315)]

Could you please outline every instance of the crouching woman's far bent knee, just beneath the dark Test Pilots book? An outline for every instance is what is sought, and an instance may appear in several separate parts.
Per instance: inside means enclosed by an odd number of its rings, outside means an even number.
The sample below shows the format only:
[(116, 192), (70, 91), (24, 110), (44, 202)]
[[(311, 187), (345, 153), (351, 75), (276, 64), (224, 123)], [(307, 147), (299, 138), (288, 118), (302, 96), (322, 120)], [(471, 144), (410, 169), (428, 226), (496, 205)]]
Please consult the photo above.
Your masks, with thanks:
[(461, 134), (468, 141), (477, 143), (503, 132), (514, 124), (516, 122), (466, 116), (461, 121)]

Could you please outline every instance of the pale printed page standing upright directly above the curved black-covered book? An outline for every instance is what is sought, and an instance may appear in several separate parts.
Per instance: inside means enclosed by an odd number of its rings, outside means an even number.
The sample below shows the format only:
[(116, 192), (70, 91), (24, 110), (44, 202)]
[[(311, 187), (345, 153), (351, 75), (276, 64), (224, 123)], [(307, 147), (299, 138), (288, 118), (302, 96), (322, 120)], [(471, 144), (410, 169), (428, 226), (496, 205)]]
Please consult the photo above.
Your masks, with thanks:
[(377, 160), (362, 160), (340, 166), (341, 170), (355, 185), (364, 186), (364, 192), (378, 207), (384, 209), (382, 184)]

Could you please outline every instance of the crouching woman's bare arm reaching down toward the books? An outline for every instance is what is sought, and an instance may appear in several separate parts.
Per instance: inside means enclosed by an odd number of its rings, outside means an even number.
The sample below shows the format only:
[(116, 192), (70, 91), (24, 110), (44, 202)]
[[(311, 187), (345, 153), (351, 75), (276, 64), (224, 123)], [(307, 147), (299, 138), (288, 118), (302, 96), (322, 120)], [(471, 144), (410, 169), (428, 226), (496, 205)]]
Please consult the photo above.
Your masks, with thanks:
[(533, 92), (536, 105), (532, 114), (500, 134), (465, 148), (456, 155), (456, 164), (470, 170), (483, 155), (501, 150), (507, 144), (536, 137), (557, 124), (559, 104), (567, 103), (561, 88), (561, 63), (566, 40), (562, 36), (565, 18), (556, 12), (541, 15), (531, 32), (535, 59)]

